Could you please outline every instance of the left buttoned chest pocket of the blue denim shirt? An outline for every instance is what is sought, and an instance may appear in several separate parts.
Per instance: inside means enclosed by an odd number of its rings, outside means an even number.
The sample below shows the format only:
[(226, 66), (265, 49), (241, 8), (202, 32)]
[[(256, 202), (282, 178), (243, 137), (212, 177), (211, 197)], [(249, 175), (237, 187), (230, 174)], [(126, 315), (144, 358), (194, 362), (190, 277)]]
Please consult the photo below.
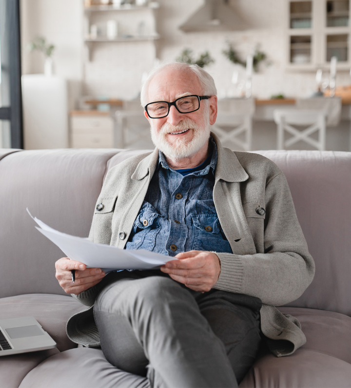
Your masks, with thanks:
[(157, 233), (161, 230), (159, 217), (156, 209), (145, 203), (134, 222), (132, 240), (127, 242), (126, 249), (153, 251)]

